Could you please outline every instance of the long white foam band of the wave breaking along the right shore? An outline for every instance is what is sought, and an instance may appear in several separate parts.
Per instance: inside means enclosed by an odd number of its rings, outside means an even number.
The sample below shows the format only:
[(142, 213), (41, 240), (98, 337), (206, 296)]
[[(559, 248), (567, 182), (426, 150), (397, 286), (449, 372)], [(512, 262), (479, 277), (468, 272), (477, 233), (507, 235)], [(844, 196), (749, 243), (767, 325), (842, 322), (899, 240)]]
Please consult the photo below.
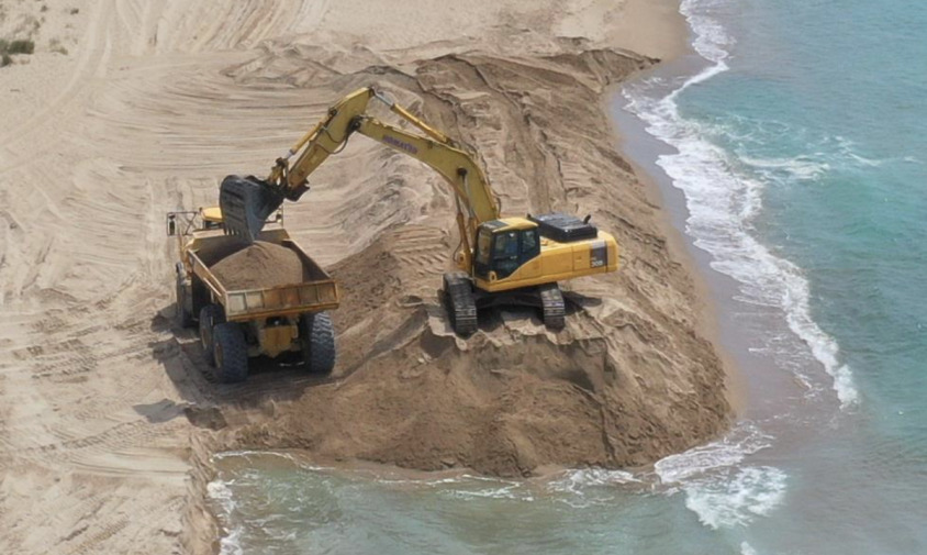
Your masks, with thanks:
[[(796, 176), (814, 178), (829, 167), (815, 158), (780, 160), (737, 159), (733, 153), (713, 144), (707, 129), (680, 115), (677, 97), (686, 88), (727, 71), (726, 47), (733, 40), (711, 15), (727, 0), (684, 0), (681, 12), (696, 37), (696, 52), (712, 62), (663, 98), (648, 96), (652, 82), (628, 87), (624, 95), (627, 109), (647, 124), (647, 131), (675, 147), (677, 154), (662, 155), (657, 164), (675, 187), (685, 193), (689, 219), (686, 232), (695, 245), (712, 254), (712, 267), (740, 282), (740, 298), (748, 302), (781, 308), (789, 328), (833, 378), (833, 387), (842, 408), (858, 400), (850, 368), (840, 362), (839, 346), (812, 319), (811, 291), (801, 268), (774, 255), (751, 235), (751, 220), (762, 207), (763, 182), (738, 173), (742, 164), (778, 166)], [(796, 370), (797, 371), (797, 370)], [(806, 376), (801, 376), (806, 379)]]

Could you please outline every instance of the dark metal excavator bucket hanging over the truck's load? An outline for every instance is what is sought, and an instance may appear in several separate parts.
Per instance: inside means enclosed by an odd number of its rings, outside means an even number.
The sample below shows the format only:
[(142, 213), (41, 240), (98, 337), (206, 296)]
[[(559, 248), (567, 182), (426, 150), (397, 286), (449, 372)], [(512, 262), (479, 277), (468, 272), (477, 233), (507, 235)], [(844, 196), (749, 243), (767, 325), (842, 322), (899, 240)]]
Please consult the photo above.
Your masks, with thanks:
[(282, 203), (282, 195), (254, 176), (227, 176), (219, 190), (225, 233), (248, 243), (257, 238), (267, 219)]

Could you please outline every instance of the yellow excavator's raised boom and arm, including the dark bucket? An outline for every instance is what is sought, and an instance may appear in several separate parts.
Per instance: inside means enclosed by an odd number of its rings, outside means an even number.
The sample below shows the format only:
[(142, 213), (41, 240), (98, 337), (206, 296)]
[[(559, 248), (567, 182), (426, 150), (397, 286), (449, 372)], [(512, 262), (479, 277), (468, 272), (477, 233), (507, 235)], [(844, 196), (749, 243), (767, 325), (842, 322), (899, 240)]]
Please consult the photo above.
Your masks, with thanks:
[[(421, 130), (424, 135), (367, 115), (367, 107), (372, 98), (384, 102), (393, 113)], [(220, 193), (226, 229), (253, 240), (260, 232), (267, 217), (284, 199), (299, 200), (308, 190), (308, 177), (328, 156), (340, 152), (354, 133), (411, 156), (445, 178), (457, 200), (460, 253), (464, 256), (461, 266), (469, 267), (470, 242), (476, 237), (477, 226), (499, 218), (499, 207), (485, 175), (473, 156), (451, 138), (369, 87), (348, 95), (333, 106), (325, 119), (303, 135), (286, 156), (277, 159), (266, 179), (227, 177)], [(290, 159), (297, 155), (291, 165)]]

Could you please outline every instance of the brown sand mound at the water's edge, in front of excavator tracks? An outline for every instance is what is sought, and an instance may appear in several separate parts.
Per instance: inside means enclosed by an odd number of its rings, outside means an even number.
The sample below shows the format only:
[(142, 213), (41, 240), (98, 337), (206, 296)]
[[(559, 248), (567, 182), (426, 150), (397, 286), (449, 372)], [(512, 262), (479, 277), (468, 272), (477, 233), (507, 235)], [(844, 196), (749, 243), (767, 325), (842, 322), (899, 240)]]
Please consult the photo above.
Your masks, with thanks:
[(342, 379), (278, 406), (273, 419), (256, 415), (230, 446), (527, 476), (550, 465), (645, 465), (726, 421), (711, 345), (677, 343), (614, 302), (568, 293), (562, 332), (515, 310), (490, 312), (477, 334), (457, 337), (422, 287), (440, 265), (403, 255), (418, 252), (423, 233), (388, 233), (331, 268), (349, 291), (334, 312)]

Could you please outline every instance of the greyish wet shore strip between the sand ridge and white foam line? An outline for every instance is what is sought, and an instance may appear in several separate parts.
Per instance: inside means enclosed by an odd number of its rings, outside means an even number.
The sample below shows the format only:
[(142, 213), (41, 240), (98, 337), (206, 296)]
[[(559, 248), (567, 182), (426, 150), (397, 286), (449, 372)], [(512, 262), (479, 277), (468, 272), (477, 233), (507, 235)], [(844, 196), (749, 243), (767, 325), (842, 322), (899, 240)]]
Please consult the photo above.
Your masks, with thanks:
[[(691, 38), (694, 41), (694, 30)], [(664, 85), (656, 88), (657, 93), (654, 90), (647, 91), (647, 98), (663, 98), (663, 95), (678, 90), (683, 82), (685, 86), (693, 80), (702, 82), (701, 76), (706, 70), (713, 77), (716, 75), (716, 64), (696, 52), (690, 42), (688, 52), (649, 69), (638, 79), (656, 76)], [(744, 293), (745, 284), (715, 269), (713, 264), (718, 262), (715, 255), (697, 246), (695, 243), (699, 238), (684, 231), (690, 218), (688, 193), (677, 187), (673, 178), (657, 164), (659, 156), (675, 154), (677, 149), (646, 131), (647, 123), (625, 108), (628, 100), (623, 90), (634, 84), (635, 80), (621, 84), (612, 99), (611, 113), (624, 133), (619, 137), (619, 147), (628, 160), (640, 168), (640, 174), (651, 179), (652, 187), (662, 200), (661, 213), (680, 240), (679, 247), (691, 263), (691, 274), (705, 299), (705, 325), (714, 331), (712, 341), (719, 356), (725, 359), (725, 367), (729, 369), (729, 398), (735, 418), (726, 440), (740, 446), (747, 445), (746, 454), (750, 464), (774, 467), (783, 454), (794, 453), (807, 440), (800, 428), (782, 423), (783, 414), (801, 413), (805, 419), (826, 421), (835, 413), (847, 415), (851, 412), (845, 410), (847, 407), (835, 376), (813, 354), (808, 338), (788, 324), (789, 310), (781, 306), (758, 306), (751, 302), (749, 295)], [(668, 236), (672, 237), (673, 234), (669, 233)], [(747, 298), (744, 298), (745, 295)], [(811, 374), (797, 375), (794, 369), (784, 367), (775, 353), (769, 352), (769, 345), (762, 338), (770, 334), (786, 337), (788, 342), (794, 343), (794, 348), (806, 352)], [(784, 364), (788, 365), (788, 360)], [(809, 406), (808, 396), (815, 395), (816, 388), (822, 386), (825, 390), (833, 389), (834, 395)], [(774, 441), (770, 442), (763, 436)], [(762, 447), (757, 448), (756, 445)]]

